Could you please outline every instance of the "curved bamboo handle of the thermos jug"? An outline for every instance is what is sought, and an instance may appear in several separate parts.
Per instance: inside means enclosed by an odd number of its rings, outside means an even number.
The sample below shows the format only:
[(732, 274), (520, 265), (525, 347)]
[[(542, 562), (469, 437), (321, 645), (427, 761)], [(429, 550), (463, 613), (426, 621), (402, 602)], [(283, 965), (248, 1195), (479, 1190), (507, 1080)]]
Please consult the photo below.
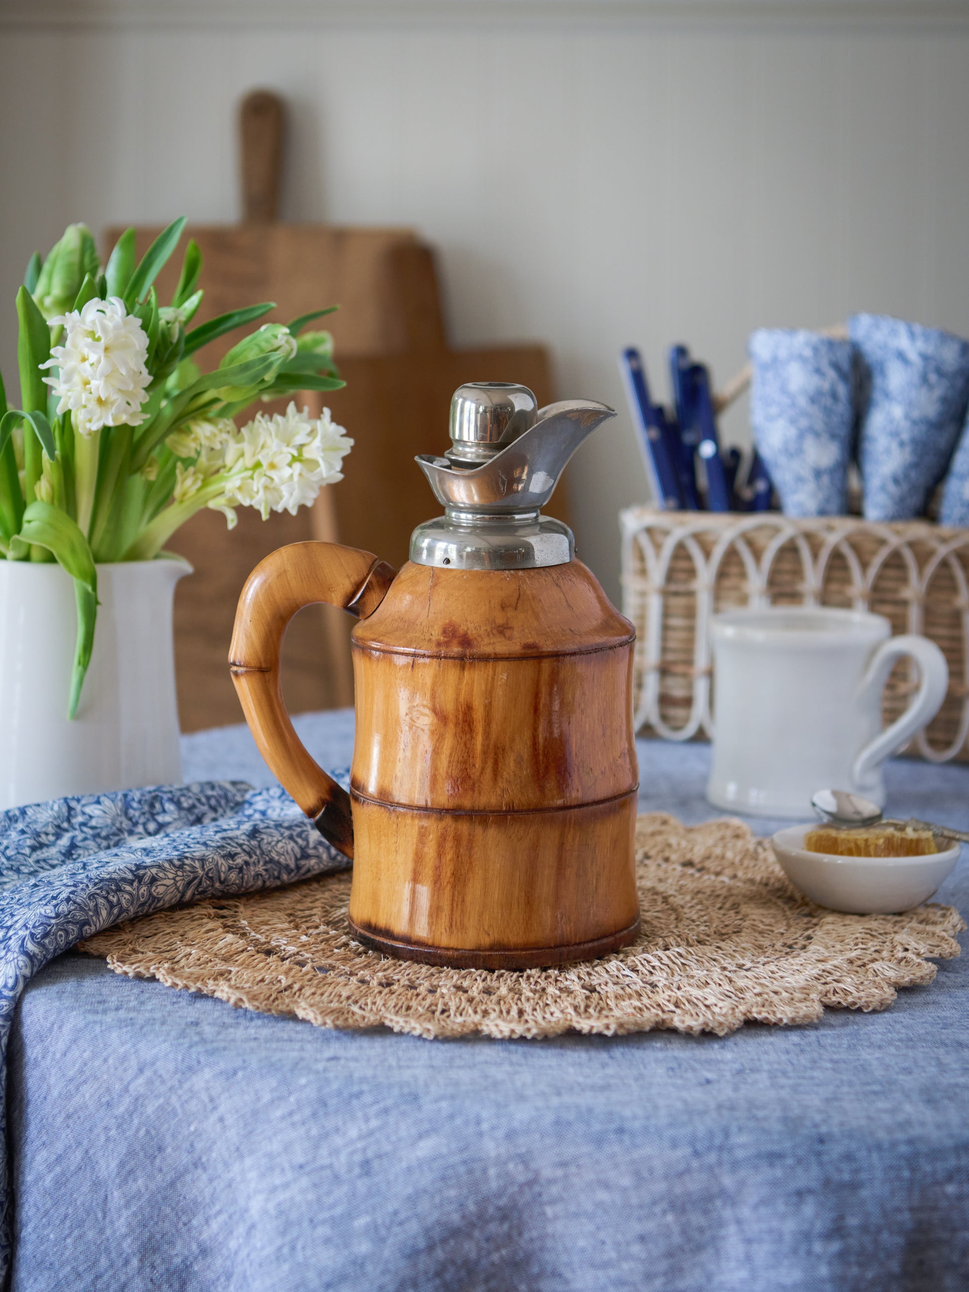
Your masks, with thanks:
[(297, 610), (320, 601), (366, 619), (397, 571), (372, 552), (339, 543), (292, 543), (260, 561), (239, 597), (229, 667), (239, 702), (270, 771), (317, 829), (353, 857), (350, 796), (310, 757), (283, 703), (279, 652)]

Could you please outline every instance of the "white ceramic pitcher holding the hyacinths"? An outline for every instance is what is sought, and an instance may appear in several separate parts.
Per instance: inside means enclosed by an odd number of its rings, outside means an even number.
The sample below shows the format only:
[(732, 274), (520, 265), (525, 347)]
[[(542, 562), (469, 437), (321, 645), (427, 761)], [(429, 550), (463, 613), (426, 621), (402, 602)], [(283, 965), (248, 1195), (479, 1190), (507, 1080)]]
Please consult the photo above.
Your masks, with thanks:
[(182, 779), (172, 650), (174, 558), (99, 565), (90, 667), (68, 721), (74, 581), (0, 561), (0, 809)]

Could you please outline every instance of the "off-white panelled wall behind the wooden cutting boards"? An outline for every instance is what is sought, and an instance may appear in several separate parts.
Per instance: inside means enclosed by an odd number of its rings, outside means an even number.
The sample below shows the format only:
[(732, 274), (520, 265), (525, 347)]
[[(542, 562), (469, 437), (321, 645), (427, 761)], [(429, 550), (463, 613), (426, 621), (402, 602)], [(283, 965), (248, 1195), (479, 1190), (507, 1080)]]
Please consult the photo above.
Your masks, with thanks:
[[(419, 227), (453, 340), (547, 341), (561, 397), (621, 407), (629, 342), (665, 390), (669, 342), (724, 381), (758, 324), (969, 335), (965, 4), (106, 3), (0, 12), (9, 385), (22, 266), (68, 220), (236, 217), (255, 85), (292, 109), (284, 217)], [(618, 596), (616, 512), (646, 496), (624, 410), (580, 463)]]

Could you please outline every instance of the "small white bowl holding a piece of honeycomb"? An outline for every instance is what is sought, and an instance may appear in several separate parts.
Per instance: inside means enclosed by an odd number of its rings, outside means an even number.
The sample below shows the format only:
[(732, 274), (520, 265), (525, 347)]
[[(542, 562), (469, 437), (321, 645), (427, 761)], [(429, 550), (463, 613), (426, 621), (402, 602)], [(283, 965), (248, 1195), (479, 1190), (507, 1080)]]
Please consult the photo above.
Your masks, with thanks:
[(926, 902), (959, 860), (961, 844), (924, 857), (836, 857), (809, 853), (817, 826), (788, 826), (771, 839), (780, 868), (818, 906), (849, 915), (894, 915)]

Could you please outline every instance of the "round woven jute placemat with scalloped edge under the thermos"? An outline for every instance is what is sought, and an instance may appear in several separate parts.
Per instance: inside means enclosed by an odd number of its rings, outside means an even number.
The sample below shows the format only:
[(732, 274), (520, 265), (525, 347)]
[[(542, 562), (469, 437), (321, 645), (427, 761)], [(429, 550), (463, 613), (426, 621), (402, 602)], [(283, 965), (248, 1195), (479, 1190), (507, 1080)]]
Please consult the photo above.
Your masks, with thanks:
[(735, 820), (637, 824), (642, 932), (602, 960), (521, 973), (439, 969), (354, 942), (349, 872), (199, 902), (81, 943), (118, 973), (318, 1027), (385, 1025), (417, 1036), (734, 1031), (810, 1023), (823, 1008), (885, 1009), (959, 955), (951, 906), (837, 915), (788, 884), (770, 844)]

